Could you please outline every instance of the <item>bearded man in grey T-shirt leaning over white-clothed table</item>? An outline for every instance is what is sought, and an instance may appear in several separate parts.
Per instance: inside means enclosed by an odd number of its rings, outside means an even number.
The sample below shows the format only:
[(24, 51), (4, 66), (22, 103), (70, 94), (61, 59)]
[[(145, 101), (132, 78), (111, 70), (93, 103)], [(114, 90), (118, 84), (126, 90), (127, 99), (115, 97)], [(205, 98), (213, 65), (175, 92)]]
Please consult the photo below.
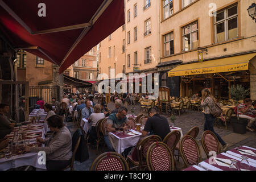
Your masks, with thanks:
[(114, 151), (109, 140), (109, 132), (115, 132), (119, 129), (125, 130), (127, 128), (127, 126), (124, 126), (124, 124), (128, 125), (127, 123), (129, 121), (126, 117), (127, 111), (125, 106), (121, 106), (118, 109), (118, 113), (110, 114), (108, 118), (107, 133), (104, 135), (104, 140), (109, 151)]

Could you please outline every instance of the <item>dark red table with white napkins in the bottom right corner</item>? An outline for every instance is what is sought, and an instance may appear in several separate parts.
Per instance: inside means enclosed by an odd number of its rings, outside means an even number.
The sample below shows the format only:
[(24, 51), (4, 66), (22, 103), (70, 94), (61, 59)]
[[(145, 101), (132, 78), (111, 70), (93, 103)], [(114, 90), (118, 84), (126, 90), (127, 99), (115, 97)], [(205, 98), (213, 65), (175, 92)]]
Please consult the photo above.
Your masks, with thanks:
[[(226, 151), (226, 153), (221, 153), (221, 154), (218, 154), (216, 156), (216, 158), (218, 159), (222, 159), (222, 161), (224, 162), (228, 162), (226, 161), (226, 159), (235, 159), (237, 160), (237, 166), (241, 169), (241, 171), (246, 171), (246, 170), (250, 170), (250, 171), (256, 171), (256, 160), (255, 160), (255, 156), (253, 155), (247, 155), (245, 153), (240, 153), (240, 151), (237, 151), (236, 149), (240, 149), (240, 150), (247, 150), (247, 151), (253, 151), (254, 154), (256, 153), (256, 149), (255, 148), (252, 148), (252, 147), (247, 147), (247, 146), (240, 146), (240, 147), (236, 147), (236, 148), (233, 148), (232, 150), (229, 150), (229, 151)], [(248, 159), (248, 162), (250, 164), (250, 167), (248, 169), (246, 169), (245, 167), (243, 167), (241, 165), (241, 155), (242, 156), (247, 156)], [(224, 163), (221, 163), (221, 162), (218, 162), (219, 164), (217, 163), (213, 163), (213, 162), (209, 162), (209, 159), (199, 163), (199, 167), (200, 168), (203, 168), (203, 169), (208, 169), (210, 171), (230, 171), (230, 168), (229, 168), (229, 165), (228, 164), (224, 164)], [(228, 162), (229, 163), (229, 162)], [(184, 169), (184, 171), (195, 171), (196, 169), (194, 169), (195, 166), (193, 166), (193, 168), (189, 167), (187, 169)], [(199, 168), (197, 168), (199, 169)], [(200, 170), (201, 171), (201, 170)]]

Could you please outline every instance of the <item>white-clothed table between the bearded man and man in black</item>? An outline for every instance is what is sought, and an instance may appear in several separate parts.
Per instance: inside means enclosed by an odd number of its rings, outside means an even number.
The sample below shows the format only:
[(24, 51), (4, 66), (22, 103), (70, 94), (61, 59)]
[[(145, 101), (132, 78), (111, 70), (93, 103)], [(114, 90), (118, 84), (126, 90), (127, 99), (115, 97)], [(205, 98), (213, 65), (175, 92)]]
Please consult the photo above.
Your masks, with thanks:
[(118, 152), (118, 154), (122, 154), (126, 148), (134, 147), (139, 142), (142, 133), (131, 129), (131, 132), (128, 134), (125, 133), (117, 133), (110, 132), (109, 140), (112, 144), (114, 150)]

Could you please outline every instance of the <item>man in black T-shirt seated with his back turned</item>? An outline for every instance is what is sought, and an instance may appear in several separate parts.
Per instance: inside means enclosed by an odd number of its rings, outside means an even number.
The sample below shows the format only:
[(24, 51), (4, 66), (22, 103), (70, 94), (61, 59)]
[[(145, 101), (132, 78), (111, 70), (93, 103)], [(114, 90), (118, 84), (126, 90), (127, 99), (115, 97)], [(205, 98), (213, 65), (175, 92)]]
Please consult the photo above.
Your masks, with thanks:
[(148, 111), (150, 118), (147, 119), (144, 129), (142, 131), (142, 137), (152, 131), (154, 135), (158, 135), (162, 139), (171, 132), (169, 123), (165, 117), (160, 116), (155, 108), (150, 108)]

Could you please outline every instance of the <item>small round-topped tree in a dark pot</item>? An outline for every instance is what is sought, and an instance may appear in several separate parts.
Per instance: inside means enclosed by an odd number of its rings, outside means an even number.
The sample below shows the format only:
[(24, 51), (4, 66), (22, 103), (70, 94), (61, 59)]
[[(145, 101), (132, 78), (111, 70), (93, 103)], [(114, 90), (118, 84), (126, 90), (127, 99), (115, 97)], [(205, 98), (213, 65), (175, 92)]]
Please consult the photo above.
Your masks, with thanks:
[[(230, 96), (233, 100), (243, 100), (246, 97), (250, 96), (250, 89), (245, 89), (242, 85), (232, 85), (230, 87)], [(233, 126), (234, 133), (245, 134), (246, 133), (246, 126), (247, 126), (247, 119), (240, 118), (238, 114), (238, 105), (237, 104), (237, 117), (232, 117), (231, 122)]]

